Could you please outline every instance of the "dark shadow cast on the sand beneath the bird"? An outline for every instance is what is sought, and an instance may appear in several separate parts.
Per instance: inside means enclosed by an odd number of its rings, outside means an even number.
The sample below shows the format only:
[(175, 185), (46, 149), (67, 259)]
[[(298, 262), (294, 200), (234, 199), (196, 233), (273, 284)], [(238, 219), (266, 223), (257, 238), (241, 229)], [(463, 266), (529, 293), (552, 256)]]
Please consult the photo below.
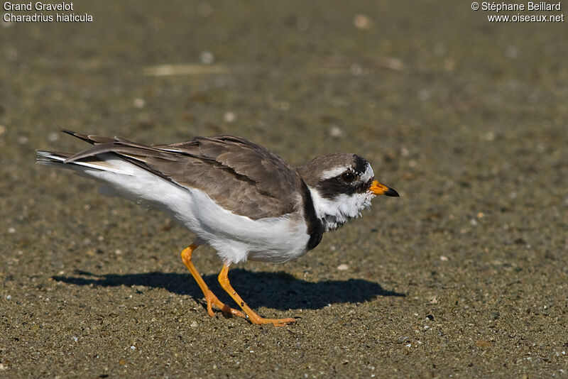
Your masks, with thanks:
[[(165, 288), (178, 295), (202, 299), (203, 293), (192, 276), (180, 273), (141, 273), (96, 275), (87, 271), (75, 272), (79, 276), (53, 276), (53, 280), (74, 285), (119, 287), (142, 285)], [(220, 300), (231, 304), (228, 295), (217, 282), (217, 275), (204, 275), (203, 279)], [(356, 303), (377, 296), (404, 297), (405, 294), (383, 289), (381, 285), (364, 279), (322, 280), (307, 282), (284, 273), (256, 273), (241, 268), (229, 273), (231, 284), (249, 306), (274, 309), (320, 309), (334, 303)]]

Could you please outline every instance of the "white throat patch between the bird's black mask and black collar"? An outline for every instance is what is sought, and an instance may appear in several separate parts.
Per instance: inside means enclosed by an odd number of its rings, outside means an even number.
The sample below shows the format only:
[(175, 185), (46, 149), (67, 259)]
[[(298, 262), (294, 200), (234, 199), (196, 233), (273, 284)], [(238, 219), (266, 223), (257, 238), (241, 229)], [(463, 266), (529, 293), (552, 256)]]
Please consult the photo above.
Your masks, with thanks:
[(361, 216), (363, 209), (371, 207), (371, 199), (375, 197), (372, 192), (361, 194), (339, 194), (334, 199), (326, 199), (317, 189), (309, 187), (315, 214), (325, 231), (331, 231), (345, 224), (349, 219)]

